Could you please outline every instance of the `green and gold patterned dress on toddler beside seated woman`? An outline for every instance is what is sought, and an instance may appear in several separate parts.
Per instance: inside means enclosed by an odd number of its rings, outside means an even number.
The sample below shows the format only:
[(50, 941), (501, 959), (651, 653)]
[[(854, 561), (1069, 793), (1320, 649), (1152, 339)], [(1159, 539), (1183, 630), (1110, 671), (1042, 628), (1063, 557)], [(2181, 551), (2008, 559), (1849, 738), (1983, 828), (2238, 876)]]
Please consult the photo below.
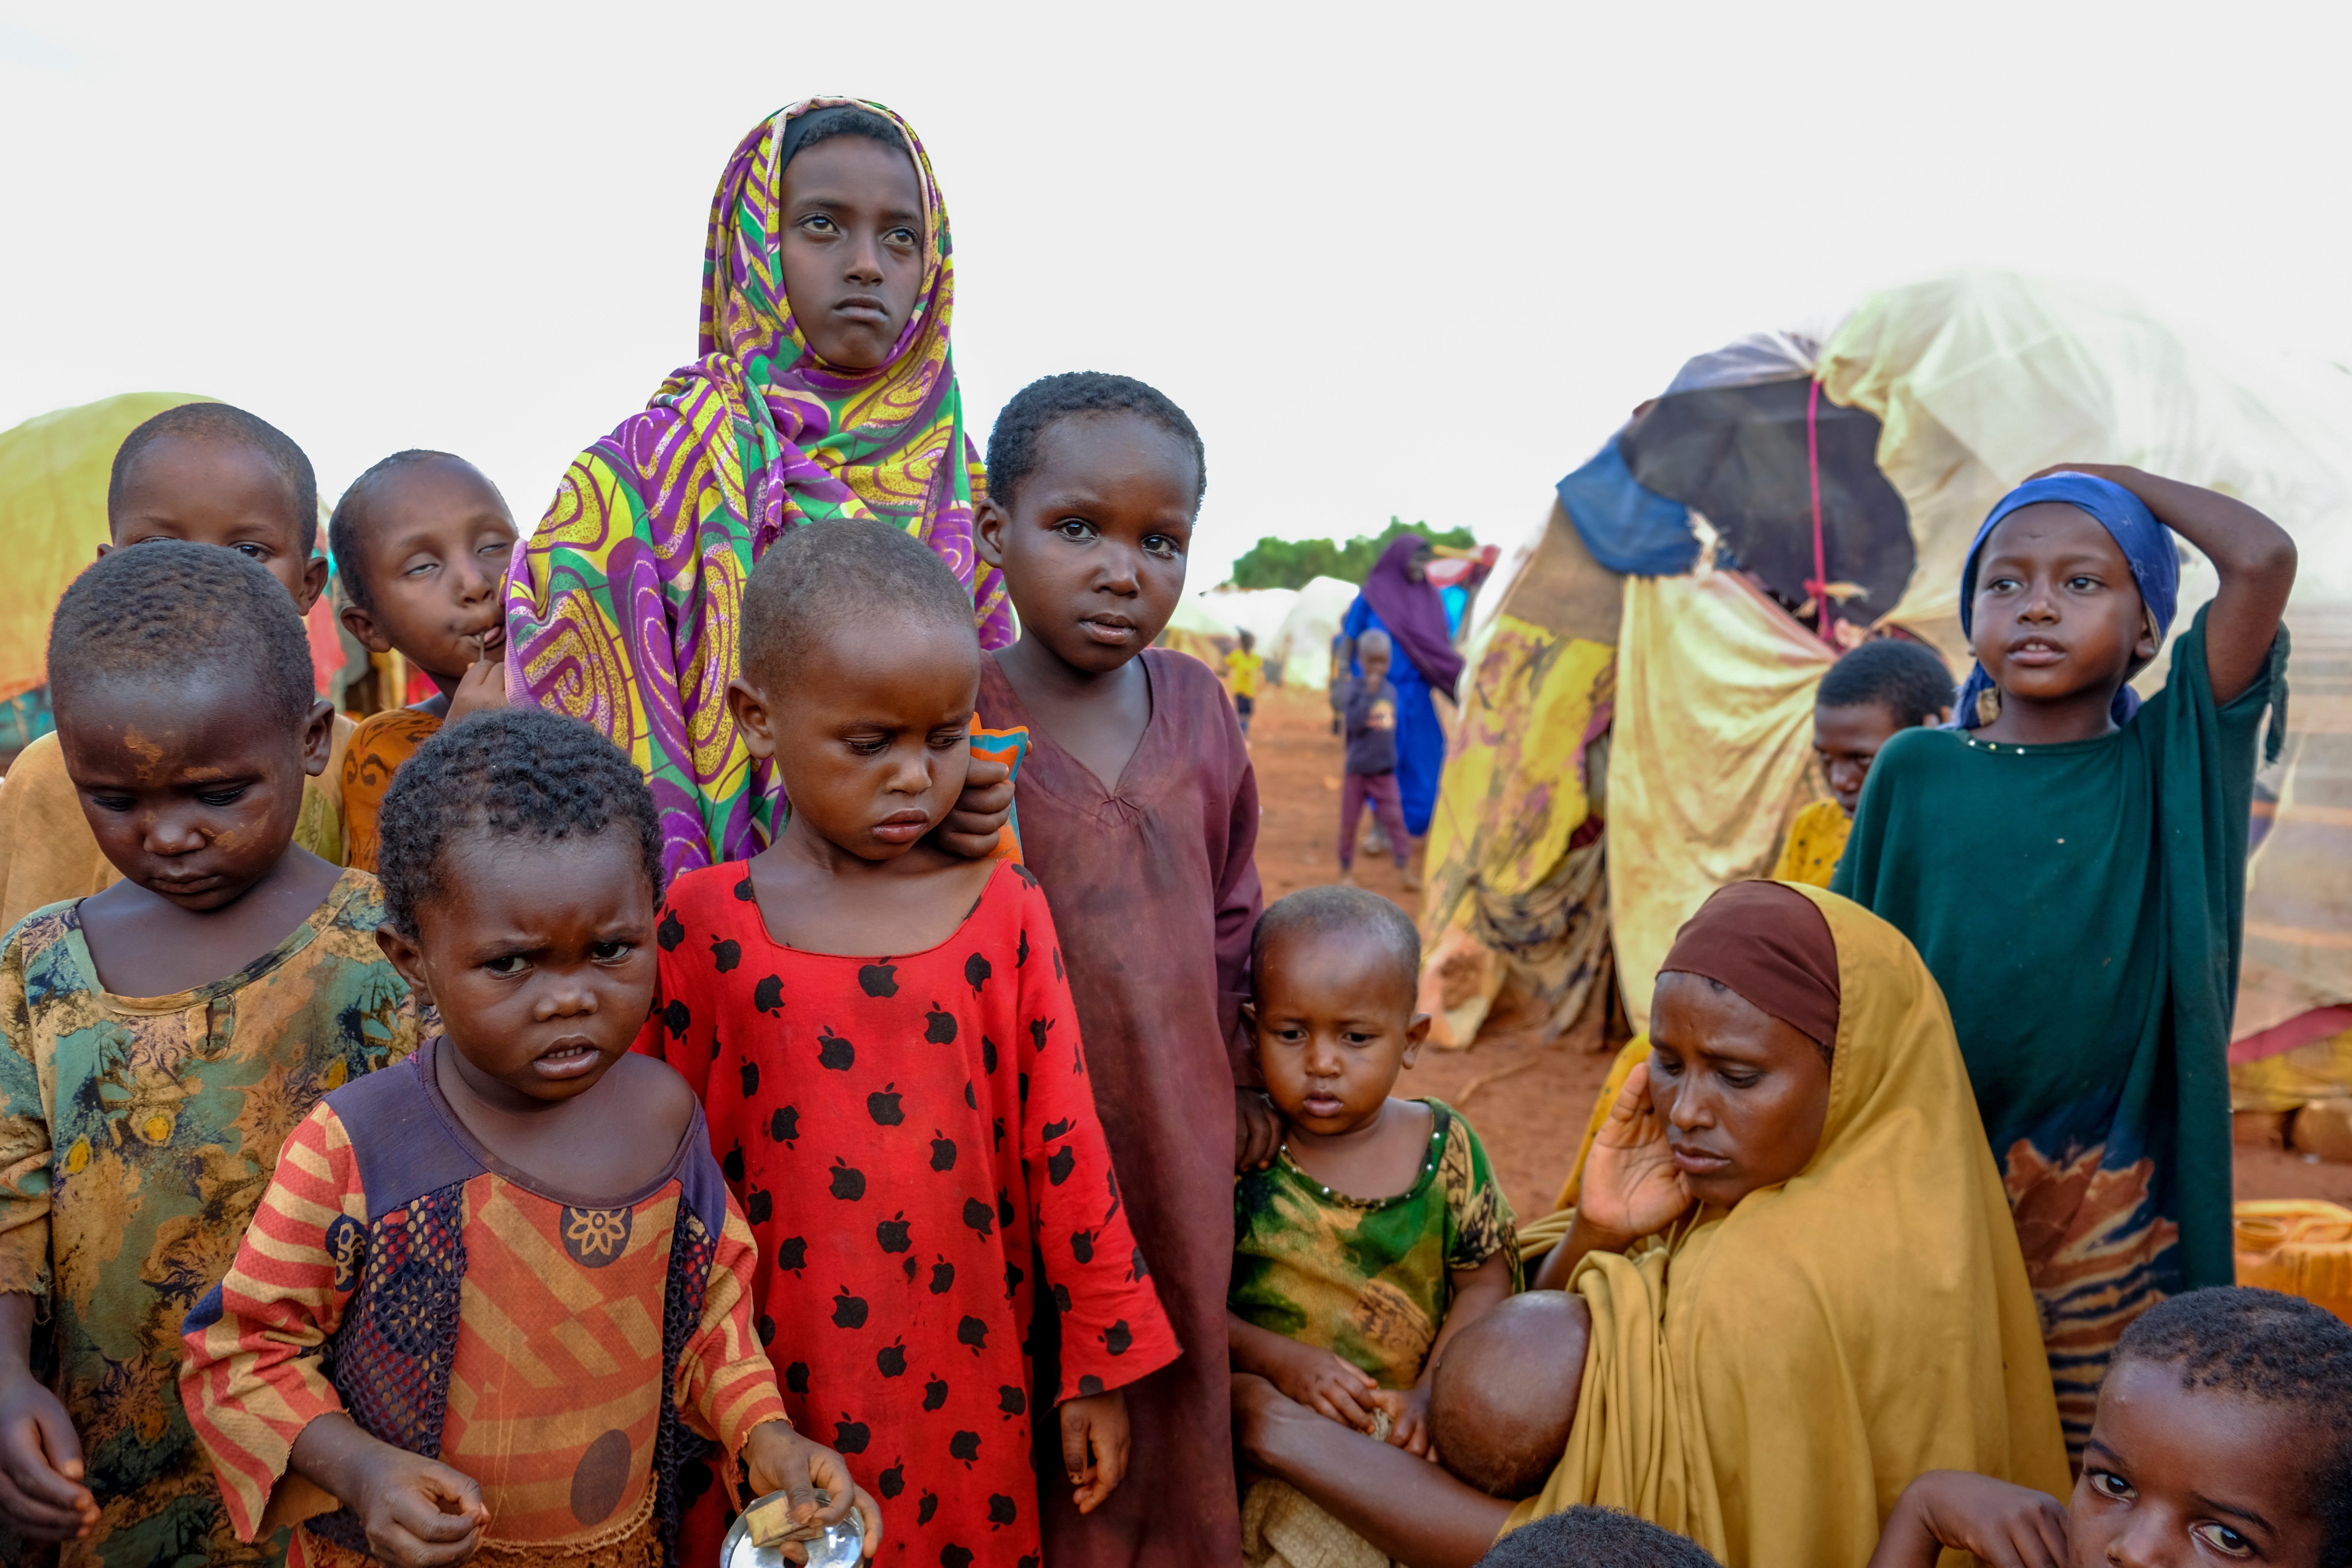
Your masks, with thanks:
[(1291, 1164), (1232, 1182), (1235, 1316), (1362, 1366), (1409, 1389), (1454, 1305), (1454, 1274), (1505, 1253), (1519, 1288), (1517, 1222), (1486, 1150), (1444, 1100), (1414, 1185), (1352, 1199)]

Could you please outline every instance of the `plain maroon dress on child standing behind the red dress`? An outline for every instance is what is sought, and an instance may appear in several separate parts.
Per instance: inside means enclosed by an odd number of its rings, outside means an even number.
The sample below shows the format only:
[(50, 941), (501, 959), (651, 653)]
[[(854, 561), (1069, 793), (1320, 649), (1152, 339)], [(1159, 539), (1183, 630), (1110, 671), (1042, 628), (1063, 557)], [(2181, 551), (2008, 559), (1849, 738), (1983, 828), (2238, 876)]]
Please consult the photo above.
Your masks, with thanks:
[[(1030, 731), (1014, 785), (1021, 856), (1054, 907), (1127, 1218), (1185, 1349), (1127, 1389), (1127, 1483), (1084, 1519), (1068, 1490), (1047, 1488), (1054, 1568), (1242, 1561), (1225, 1284), (1232, 1086), (1256, 1081), (1240, 1004), (1261, 907), (1258, 780), (1204, 663), (1145, 649), (1143, 670), (1152, 717), (1105, 790), (1037, 726), (995, 658), (981, 661), (981, 722)], [(1040, 1347), (1040, 1375), (1049, 1354)]]

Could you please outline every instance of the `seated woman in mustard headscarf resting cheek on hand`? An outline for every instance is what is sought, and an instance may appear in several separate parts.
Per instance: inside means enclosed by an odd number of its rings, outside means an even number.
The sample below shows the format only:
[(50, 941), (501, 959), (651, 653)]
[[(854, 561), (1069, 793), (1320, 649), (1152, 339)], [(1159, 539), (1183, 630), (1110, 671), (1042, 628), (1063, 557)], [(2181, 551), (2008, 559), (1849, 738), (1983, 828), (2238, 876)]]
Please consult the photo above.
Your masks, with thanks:
[[(1651, 1058), (1536, 1274), (1592, 1314), (1566, 1455), (1517, 1505), (1235, 1378), (1249, 1462), (1409, 1568), (1576, 1505), (1731, 1568), (1863, 1568), (1957, 1467), (2065, 1495), (2009, 1204), (1943, 994), (1823, 889), (1740, 882), (1682, 929)], [(1536, 1227), (1531, 1227), (1536, 1229)]]

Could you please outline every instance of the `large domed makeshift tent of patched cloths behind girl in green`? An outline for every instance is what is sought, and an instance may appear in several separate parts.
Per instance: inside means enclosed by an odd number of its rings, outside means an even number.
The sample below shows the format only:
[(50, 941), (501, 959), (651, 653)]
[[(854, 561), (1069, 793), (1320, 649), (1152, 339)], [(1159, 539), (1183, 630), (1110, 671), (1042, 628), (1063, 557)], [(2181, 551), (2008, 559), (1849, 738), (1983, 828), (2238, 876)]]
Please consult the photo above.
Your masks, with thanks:
[[(2239, 494), (2303, 550), (2298, 689), (2286, 755), (2260, 780), (2232, 1056), (2265, 1034), (2338, 1048), (2352, 376), (2232, 362), (2107, 292), (1999, 273), (1875, 294), (1818, 346), (1759, 334), (1700, 355), (1562, 480), (1470, 639), (1423, 903), (1432, 1037), (1468, 1044), (1501, 990), (1552, 1032), (1590, 1023), (1611, 961), (1644, 1023), (1672, 931), (1722, 882), (1766, 872), (1823, 795), (1820, 670), (1893, 628), (1964, 668), (1962, 552), (2011, 484), (2067, 458)], [(2192, 559), (2183, 625), (2211, 585)], [(1613, 959), (1595, 952), (1602, 929)]]

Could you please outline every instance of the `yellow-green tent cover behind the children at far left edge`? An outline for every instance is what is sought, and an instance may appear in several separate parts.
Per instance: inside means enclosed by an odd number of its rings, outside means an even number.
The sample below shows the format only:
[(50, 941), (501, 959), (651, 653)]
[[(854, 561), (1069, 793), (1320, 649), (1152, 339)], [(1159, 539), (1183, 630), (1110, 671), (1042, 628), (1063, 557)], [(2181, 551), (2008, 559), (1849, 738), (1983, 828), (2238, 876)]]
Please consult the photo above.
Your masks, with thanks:
[(49, 614), (106, 543), (106, 475), (136, 425), (195, 393), (122, 393), (0, 430), (0, 698), (49, 679)]

